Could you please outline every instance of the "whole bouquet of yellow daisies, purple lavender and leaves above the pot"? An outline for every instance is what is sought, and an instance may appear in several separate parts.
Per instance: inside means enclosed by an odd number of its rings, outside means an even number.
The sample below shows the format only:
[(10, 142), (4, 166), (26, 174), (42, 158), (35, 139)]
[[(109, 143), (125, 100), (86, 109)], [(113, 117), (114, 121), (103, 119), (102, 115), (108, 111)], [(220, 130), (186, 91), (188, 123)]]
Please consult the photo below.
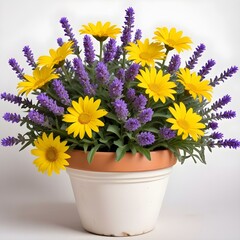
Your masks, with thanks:
[(216, 131), (219, 120), (236, 116), (222, 110), (231, 97), (211, 103), (213, 88), (238, 68), (208, 78), (215, 65), (211, 59), (194, 71), (204, 44), (183, 63), (180, 54), (191, 49), (191, 39), (175, 28), (158, 27), (152, 39), (142, 40), (134, 14), (133, 8), (126, 10), (122, 29), (110, 22), (83, 25), (82, 46), (68, 19), (61, 18), (67, 41), (58, 38), (58, 48), (37, 61), (29, 46), (23, 48), (30, 75), (11, 58), (18, 94), (4, 92), (0, 98), (17, 104), (24, 115), (7, 112), (3, 118), (27, 131), (1, 144), (21, 144), (20, 150), (33, 145), (34, 164), (48, 175), (65, 169), (69, 149), (88, 152), (89, 163), (96, 151), (116, 152), (119, 161), (126, 152), (150, 160), (150, 151), (159, 149), (171, 150), (182, 163), (189, 157), (205, 163), (206, 148), (239, 148), (240, 141)]

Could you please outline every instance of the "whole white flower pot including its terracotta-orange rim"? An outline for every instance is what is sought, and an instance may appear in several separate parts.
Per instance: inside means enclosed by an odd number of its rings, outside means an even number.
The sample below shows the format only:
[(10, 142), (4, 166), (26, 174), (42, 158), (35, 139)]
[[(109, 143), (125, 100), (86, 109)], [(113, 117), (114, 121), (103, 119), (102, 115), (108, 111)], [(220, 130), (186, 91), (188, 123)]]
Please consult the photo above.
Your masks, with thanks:
[(114, 161), (114, 153), (98, 152), (91, 164), (74, 150), (69, 174), (85, 230), (108, 236), (132, 236), (154, 229), (176, 158), (168, 150), (137, 153)]

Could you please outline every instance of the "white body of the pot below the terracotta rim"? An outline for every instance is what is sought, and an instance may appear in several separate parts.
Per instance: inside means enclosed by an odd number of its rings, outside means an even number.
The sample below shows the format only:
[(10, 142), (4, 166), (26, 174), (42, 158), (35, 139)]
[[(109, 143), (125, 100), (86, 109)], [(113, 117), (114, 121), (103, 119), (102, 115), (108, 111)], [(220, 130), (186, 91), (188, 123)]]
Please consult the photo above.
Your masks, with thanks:
[(68, 167), (83, 228), (107, 236), (153, 230), (171, 170), (93, 172)]

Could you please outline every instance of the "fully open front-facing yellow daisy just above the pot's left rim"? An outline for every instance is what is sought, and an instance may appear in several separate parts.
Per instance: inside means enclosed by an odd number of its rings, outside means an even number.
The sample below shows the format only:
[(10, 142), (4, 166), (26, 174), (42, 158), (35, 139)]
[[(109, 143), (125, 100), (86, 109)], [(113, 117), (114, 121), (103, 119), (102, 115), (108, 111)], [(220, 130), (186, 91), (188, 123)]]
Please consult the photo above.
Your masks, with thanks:
[(108, 112), (104, 109), (98, 109), (101, 100), (94, 101), (93, 98), (86, 96), (84, 99), (80, 97), (78, 102), (72, 101), (72, 107), (67, 110), (70, 114), (63, 116), (63, 121), (72, 123), (68, 128), (68, 134), (76, 137), (79, 135), (83, 139), (85, 133), (92, 138), (92, 130), (99, 132), (99, 126), (104, 126), (104, 123), (99, 120), (100, 117), (105, 116)]

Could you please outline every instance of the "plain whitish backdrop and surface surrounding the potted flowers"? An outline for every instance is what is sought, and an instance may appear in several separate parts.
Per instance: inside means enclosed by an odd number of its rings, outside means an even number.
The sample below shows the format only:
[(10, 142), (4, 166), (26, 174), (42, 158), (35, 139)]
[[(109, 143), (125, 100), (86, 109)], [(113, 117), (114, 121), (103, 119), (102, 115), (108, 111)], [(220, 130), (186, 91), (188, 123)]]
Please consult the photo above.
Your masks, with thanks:
[[(0, 1), (0, 92), (16, 92), (18, 79), (8, 59), (18, 60), (30, 74), (22, 48), (30, 45), (35, 59), (57, 48), (63, 36), (59, 20), (66, 16), (76, 37), (88, 22), (111, 21), (123, 25), (125, 9), (134, 7), (136, 27), (151, 38), (156, 27), (176, 27), (194, 42), (207, 46), (200, 63), (213, 58), (214, 77), (232, 65), (240, 66), (240, 1), (236, 0), (7, 0)], [(184, 53), (188, 60), (191, 52)], [(232, 96), (228, 109), (238, 112), (234, 120), (222, 121), (226, 138), (240, 136), (240, 71), (215, 88), (215, 98)], [(18, 112), (0, 102), (0, 115)], [(0, 119), (0, 138), (24, 132)], [(29, 148), (0, 147), (0, 239), (105, 239), (85, 233), (79, 223), (73, 193), (65, 172), (53, 177), (38, 173)], [(106, 238), (109, 239), (109, 238)], [(207, 153), (207, 165), (191, 160), (178, 164), (171, 176), (156, 229), (131, 239), (240, 239), (240, 151), (215, 149)]]

